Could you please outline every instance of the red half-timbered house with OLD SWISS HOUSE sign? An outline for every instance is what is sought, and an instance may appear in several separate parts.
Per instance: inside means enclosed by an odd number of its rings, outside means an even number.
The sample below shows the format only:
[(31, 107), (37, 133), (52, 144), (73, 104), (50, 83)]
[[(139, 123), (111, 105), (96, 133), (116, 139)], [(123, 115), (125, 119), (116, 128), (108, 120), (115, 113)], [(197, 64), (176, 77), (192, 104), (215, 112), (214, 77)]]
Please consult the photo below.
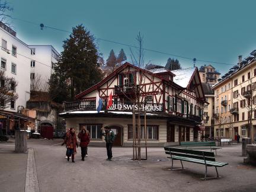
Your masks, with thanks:
[[(139, 103), (130, 98), (137, 95)], [(106, 110), (107, 98), (113, 94), (113, 105)], [(95, 109), (96, 95), (104, 101), (100, 113)], [(91, 145), (104, 145), (101, 127), (109, 126), (116, 134), (114, 145), (132, 146), (132, 111), (140, 108), (141, 118), (146, 113), (148, 146), (177, 145), (182, 141), (201, 138), (203, 88), (197, 68), (169, 71), (164, 68), (145, 70), (124, 63), (93, 87), (76, 95), (77, 101), (65, 103), (60, 113), (66, 126), (79, 132), (86, 126), (91, 133)], [(138, 107), (139, 106), (139, 107)]]

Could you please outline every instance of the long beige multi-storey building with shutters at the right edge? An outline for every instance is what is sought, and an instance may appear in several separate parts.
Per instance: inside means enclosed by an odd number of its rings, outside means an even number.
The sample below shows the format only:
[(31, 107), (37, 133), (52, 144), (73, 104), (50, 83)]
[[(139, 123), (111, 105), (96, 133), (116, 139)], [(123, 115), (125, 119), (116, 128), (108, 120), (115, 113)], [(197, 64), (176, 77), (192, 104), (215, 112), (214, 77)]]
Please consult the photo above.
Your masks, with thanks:
[[(217, 99), (220, 101), (220, 98), (223, 98), (222, 104), (219, 104), (219, 107), (223, 108), (221, 109), (223, 113), (221, 110), (219, 111), (220, 116), (222, 114), (231, 119), (229, 120), (231, 122), (225, 123), (225, 119), (222, 119), (221, 123), (215, 124), (216, 136), (236, 139), (236, 135), (239, 133), (241, 137), (251, 137), (252, 141), (256, 139), (255, 56), (256, 50), (244, 60), (242, 60), (242, 56), (239, 56), (238, 64), (222, 76), (213, 87), (216, 103)], [(228, 99), (227, 109), (225, 109), (226, 98)], [(252, 120), (252, 126), (250, 126), (250, 120)]]

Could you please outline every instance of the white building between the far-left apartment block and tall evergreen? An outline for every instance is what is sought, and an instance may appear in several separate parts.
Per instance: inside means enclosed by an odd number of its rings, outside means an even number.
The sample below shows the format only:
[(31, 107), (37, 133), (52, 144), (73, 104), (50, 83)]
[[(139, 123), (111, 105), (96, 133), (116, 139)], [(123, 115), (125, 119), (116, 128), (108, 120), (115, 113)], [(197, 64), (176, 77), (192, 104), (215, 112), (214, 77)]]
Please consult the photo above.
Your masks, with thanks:
[(29, 45), (31, 90), (46, 91), (46, 84), (54, 72), (59, 53), (51, 45)]

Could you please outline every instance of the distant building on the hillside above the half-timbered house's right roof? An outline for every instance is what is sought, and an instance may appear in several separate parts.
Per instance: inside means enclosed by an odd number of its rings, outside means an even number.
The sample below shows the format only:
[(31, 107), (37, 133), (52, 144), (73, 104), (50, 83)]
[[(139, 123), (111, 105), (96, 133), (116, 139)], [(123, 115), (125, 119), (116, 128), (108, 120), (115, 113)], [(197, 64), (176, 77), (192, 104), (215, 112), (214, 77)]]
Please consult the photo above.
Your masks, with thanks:
[(220, 73), (217, 72), (212, 65), (201, 66), (199, 69), (199, 74), (200, 74), (201, 82), (207, 82), (211, 86), (217, 82), (217, 79), (219, 79), (219, 75), (220, 75)]

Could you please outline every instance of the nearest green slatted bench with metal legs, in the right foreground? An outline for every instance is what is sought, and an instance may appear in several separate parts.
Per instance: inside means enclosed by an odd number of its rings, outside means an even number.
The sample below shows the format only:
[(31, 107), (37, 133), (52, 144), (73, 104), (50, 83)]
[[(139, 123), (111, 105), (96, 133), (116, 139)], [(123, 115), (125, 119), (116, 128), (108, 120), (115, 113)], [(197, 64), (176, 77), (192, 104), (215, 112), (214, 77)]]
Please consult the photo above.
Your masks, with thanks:
[[(206, 180), (207, 178), (207, 167), (215, 167), (217, 172), (217, 167), (223, 167), (225, 165), (228, 165), (228, 163), (225, 163), (225, 162), (217, 162), (215, 159), (214, 152), (172, 148), (169, 146), (166, 146), (164, 149), (165, 149), (165, 153), (170, 155), (168, 156), (168, 158), (171, 158), (172, 160), (171, 169), (173, 169), (174, 160), (180, 160), (182, 169), (184, 169), (182, 161), (205, 165), (206, 171), (204, 173), (204, 180)], [(217, 178), (219, 178), (218, 172), (217, 172)]]

